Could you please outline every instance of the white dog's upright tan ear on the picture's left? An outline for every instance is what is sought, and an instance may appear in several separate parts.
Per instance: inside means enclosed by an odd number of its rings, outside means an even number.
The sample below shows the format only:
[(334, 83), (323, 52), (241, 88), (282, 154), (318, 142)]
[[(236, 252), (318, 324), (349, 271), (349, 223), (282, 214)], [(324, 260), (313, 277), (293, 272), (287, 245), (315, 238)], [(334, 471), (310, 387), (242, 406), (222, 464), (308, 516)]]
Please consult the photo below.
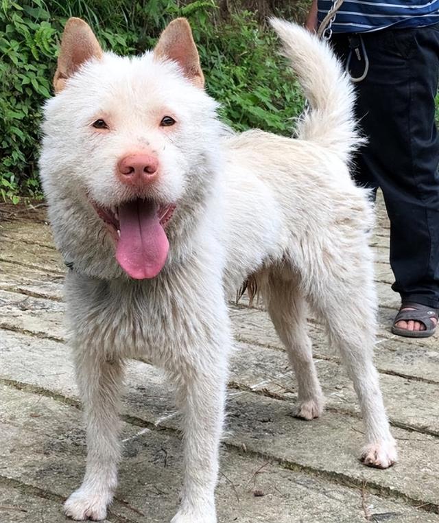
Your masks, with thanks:
[(62, 91), (67, 78), (91, 58), (102, 58), (102, 49), (95, 34), (84, 20), (69, 19), (62, 34), (58, 67), (54, 76), (55, 93)]

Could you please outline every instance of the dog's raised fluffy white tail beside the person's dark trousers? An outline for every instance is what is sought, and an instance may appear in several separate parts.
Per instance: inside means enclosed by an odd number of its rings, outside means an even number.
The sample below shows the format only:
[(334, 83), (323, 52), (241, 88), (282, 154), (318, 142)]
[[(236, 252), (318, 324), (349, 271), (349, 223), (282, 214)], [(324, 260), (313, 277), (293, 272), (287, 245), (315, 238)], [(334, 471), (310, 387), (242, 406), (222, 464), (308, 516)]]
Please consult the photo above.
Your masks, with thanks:
[(297, 137), (319, 143), (348, 161), (361, 139), (353, 115), (353, 84), (342, 64), (326, 42), (303, 27), (276, 18), (270, 23), (310, 105), (298, 121)]

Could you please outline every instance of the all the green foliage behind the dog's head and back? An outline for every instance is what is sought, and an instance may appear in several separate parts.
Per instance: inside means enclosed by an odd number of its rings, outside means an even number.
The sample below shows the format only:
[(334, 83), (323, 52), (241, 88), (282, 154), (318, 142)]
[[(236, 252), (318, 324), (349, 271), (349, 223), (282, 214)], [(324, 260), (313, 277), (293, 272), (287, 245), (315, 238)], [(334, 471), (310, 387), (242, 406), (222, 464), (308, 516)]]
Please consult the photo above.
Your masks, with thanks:
[(62, 27), (85, 19), (104, 49), (136, 54), (154, 46), (176, 16), (186, 16), (200, 50), (206, 89), (222, 104), (221, 116), (237, 130), (289, 134), (302, 99), (274, 34), (254, 14), (217, 20), (215, 0), (0, 0), (0, 200), (40, 197), (37, 161), (41, 106)]

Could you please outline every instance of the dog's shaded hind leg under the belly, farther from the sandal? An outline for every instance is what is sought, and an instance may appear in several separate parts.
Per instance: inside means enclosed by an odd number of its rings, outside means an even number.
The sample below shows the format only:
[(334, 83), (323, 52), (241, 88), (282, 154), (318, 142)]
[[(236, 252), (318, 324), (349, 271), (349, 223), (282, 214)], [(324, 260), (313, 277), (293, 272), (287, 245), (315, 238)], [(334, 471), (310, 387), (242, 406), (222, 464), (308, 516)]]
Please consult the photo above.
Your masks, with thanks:
[(322, 414), (324, 397), (313, 362), (311, 340), (307, 334), (307, 303), (297, 277), (282, 279), (271, 273), (259, 289), (298, 382), (294, 416), (313, 419)]

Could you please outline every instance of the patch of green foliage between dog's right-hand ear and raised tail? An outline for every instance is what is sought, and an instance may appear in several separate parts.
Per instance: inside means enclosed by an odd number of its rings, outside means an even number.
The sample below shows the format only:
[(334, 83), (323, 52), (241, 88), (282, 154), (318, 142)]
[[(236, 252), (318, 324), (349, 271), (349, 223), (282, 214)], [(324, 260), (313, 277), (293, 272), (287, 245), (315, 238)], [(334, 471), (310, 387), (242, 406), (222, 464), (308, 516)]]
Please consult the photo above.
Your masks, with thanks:
[(274, 34), (261, 30), (250, 12), (233, 15), (220, 31), (212, 25), (192, 26), (206, 71), (206, 89), (222, 103), (224, 121), (237, 130), (291, 134), (302, 97), (278, 54)]

